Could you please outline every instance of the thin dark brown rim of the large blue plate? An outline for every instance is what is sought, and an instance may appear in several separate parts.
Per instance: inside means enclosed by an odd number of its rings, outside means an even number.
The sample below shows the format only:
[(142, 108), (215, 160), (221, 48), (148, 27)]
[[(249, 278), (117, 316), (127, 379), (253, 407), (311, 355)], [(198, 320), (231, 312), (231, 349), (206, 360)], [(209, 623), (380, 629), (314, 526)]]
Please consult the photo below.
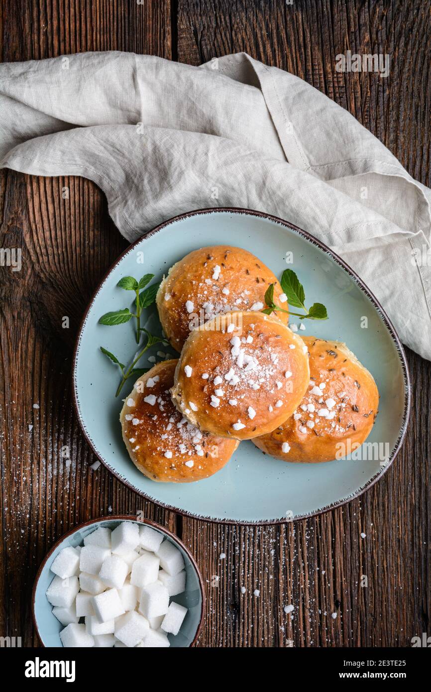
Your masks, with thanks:
[[(212, 517), (205, 517), (201, 516), (199, 514), (193, 514), (192, 512), (187, 512), (184, 509), (179, 509), (178, 507), (173, 507), (172, 505), (169, 504), (164, 504), (163, 502), (159, 502), (158, 500), (154, 500), (150, 495), (146, 495), (142, 491), (140, 491), (138, 488), (136, 488), (134, 485), (129, 483), (129, 481), (125, 480), (121, 475), (119, 475), (109, 464), (100, 457), (98, 454), (98, 451), (95, 449), (95, 446), (93, 445), (93, 442), (89, 438), (89, 436), (86, 434), (86, 430), (84, 428), (84, 421), (82, 420), (82, 417), (80, 415), (80, 408), (78, 406), (77, 402), (77, 388), (76, 388), (76, 378), (75, 378), (75, 371), (76, 371), (76, 362), (77, 362), (77, 352), (78, 352), (78, 347), (80, 343), (80, 338), (82, 334), (82, 329), (84, 328), (84, 324), (86, 321), (86, 317), (89, 313), (89, 310), (93, 304), (93, 301), (95, 300), (96, 295), (98, 295), (100, 289), (102, 289), (102, 286), (104, 282), (107, 280), (109, 275), (111, 274), (111, 271), (113, 271), (113, 268), (117, 266), (117, 264), (122, 260), (122, 257), (125, 257), (128, 253), (133, 251), (134, 247), (142, 242), (143, 240), (152, 237), (153, 235), (156, 235), (159, 230), (162, 230), (162, 228), (166, 228), (167, 226), (170, 226), (171, 224), (176, 223), (176, 221), (181, 221), (183, 219), (187, 219), (189, 217), (194, 217), (194, 216), (199, 216), (203, 214), (213, 214), (214, 212), (223, 212), (226, 214), (239, 214), (239, 215), (249, 215), (253, 217), (259, 217), (262, 219), (266, 219), (267, 221), (273, 221), (275, 224), (279, 224), (280, 226), (284, 226), (284, 228), (287, 228), (288, 230), (293, 230), (297, 235), (302, 236), (304, 239), (309, 241), (312, 245), (320, 248), (320, 250), (324, 251), (331, 259), (336, 262), (339, 266), (341, 266), (347, 274), (354, 279), (356, 282), (356, 285), (358, 288), (365, 293), (367, 298), (372, 302), (374, 305), (374, 308), (378, 312), (380, 318), (383, 320), (385, 327), (387, 328), (387, 331), (389, 331), (390, 336), (392, 337), (392, 340), (394, 342), (394, 346), (396, 347), (396, 350), (398, 352), (398, 357), (401, 361), (401, 367), (403, 370), (403, 379), (404, 379), (404, 412), (403, 412), (403, 422), (401, 424), (401, 431), (400, 434), (398, 435), (398, 439), (396, 440), (396, 443), (394, 445), (394, 448), (392, 450), (392, 453), (389, 457), (389, 460), (387, 464), (384, 466), (383, 470), (379, 471), (372, 477), (365, 485), (359, 489), (357, 493), (353, 493), (352, 495), (349, 495), (347, 498), (343, 498), (339, 502), (333, 502), (326, 507), (322, 507), (321, 509), (317, 509), (316, 511), (310, 512), (308, 514), (301, 514), (298, 516), (295, 516), (293, 519), (286, 519), (286, 518), (279, 518), (279, 519), (271, 519), (271, 520), (258, 520), (258, 521), (234, 521), (232, 519), (218, 519), (218, 518), (212, 518)], [(201, 521), (207, 521), (207, 522), (213, 522), (214, 524), (227, 524), (227, 525), (240, 525), (240, 526), (271, 526), (271, 525), (279, 525), (279, 524), (286, 524), (290, 523), (293, 521), (298, 521), (301, 519), (308, 519), (313, 516), (318, 516), (320, 514), (323, 514), (324, 512), (331, 511), (332, 509), (336, 509), (336, 507), (342, 507), (344, 504), (347, 504), (347, 502), (351, 502), (351, 500), (355, 500), (356, 498), (359, 498), (360, 495), (363, 495), (365, 491), (369, 490), (380, 478), (383, 476), (384, 473), (386, 473), (387, 469), (389, 466), (392, 466), (392, 463), (394, 462), (394, 459), (396, 458), (396, 455), (398, 455), (398, 452), (401, 448), (401, 444), (403, 443), (403, 439), (405, 437), (405, 432), (407, 430), (407, 424), (409, 421), (410, 417), (410, 406), (411, 406), (411, 387), (410, 387), (410, 376), (409, 376), (409, 371), (407, 367), (407, 360), (405, 358), (405, 352), (403, 349), (403, 346), (401, 345), (401, 341), (398, 337), (398, 334), (396, 333), (396, 330), (394, 328), (394, 325), (392, 325), (391, 320), (389, 320), (389, 317), (385, 313), (385, 310), (383, 307), (380, 305), (380, 302), (378, 302), (376, 296), (372, 291), (369, 290), (369, 288), (366, 286), (366, 284), (363, 282), (363, 280), (356, 274), (356, 272), (344, 261), (339, 257), (336, 253), (334, 253), (332, 250), (329, 249), (327, 245), (322, 243), (320, 240), (316, 239), (311, 235), (310, 233), (307, 233), (306, 230), (302, 230), (302, 228), (299, 228), (299, 226), (295, 226), (295, 224), (291, 224), (289, 221), (284, 221), (283, 219), (279, 219), (279, 217), (275, 217), (270, 214), (265, 214), (264, 212), (258, 212), (252, 209), (242, 209), (240, 207), (209, 207), (209, 208), (204, 208), (204, 209), (196, 209), (191, 212), (185, 212), (184, 214), (178, 214), (178, 216), (172, 217), (171, 219), (167, 219), (167, 221), (163, 221), (162, 224), (159, 224), (152, 230), (149, 230), (148, 233), (145, 233), (142, 235), (140, 238), (138, 238), (134, 243), (129, 245), (128, 248), (124, 252), (121, 253), (121, 255), (117, 258), (113, 264), (109, 267), (107, 273), (105, 273), (104, 277), (102, 280), (99, 282), (97, 289), (95, 289), (95, 292), (93, 293), (93, 296), (86, 307), (86, 311), (84, 312), (84, 316), (82, 317), (81, 324), (80, 324), (80, 329), (77, 334), (77, 339), (75, 343), (75, 350), (73, 352), (73, 365), (72, 365), (72, 391), (73, 391), (73, 403), (75, 406), (75, 411), (77, 414), (77, 419), (80, 424), (80, 428), (82, 430), (82, 434), (84, 435), (86, 441), (88, 442), (89, 446), (91, 447), (91, 450), (93, 451), (93, 454), (95, 457), (97, 457), (100, 462), (104, 466), (106, 466), (111, 473), (118, 478), (122, 483), (124, 483), (128, 488), (133, 490), (134, 492), (138, 493), (140, 497), (145, 498), (145, 500), (149, 500), (149, 502), (154, 502), (158, 507), (162, 507), (163, 509), (167, 509), (168, 511), (176, 512), (177, 514), (180, 514), (181, 516), (184, 517), (190, 517), (191, 519), (197, 519)]]

